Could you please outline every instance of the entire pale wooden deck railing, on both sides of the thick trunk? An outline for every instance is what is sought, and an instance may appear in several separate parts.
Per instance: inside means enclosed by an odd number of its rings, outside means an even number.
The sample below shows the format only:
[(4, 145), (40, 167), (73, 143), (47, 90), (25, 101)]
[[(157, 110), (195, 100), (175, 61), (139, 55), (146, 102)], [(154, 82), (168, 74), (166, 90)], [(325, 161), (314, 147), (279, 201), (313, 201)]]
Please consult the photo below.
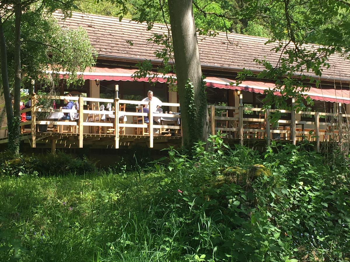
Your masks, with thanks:
[[(109, 137), (113, 139), (113, 147), (119, 148), (119, 138), (121, 135), (125, 134), (127, 136), (132, 136), (135, 134), (134, 130), (143, 129), (141, 132), (143, 137), (149, 138), (149, 147), (153, 147), (154, 140), (154, 130), (172, 130), (172, 132), (181, 131), (181, 124), (174, 125), (161, 125), (154, 124), (151, 119), (161, 119), (167, 118), (174, 121), (181, 118), (181, 115), (173, 114), (155, 114), (152, 110), (148, 114), (130, 111), (119, 111), (120, 105), (129, 105), (129, 107), (136, 108), (138, 105), (148, 105), (152, 108), (152, 102), (141, 102), (132, 100), (120, 100), (120, 99), (100, 99), (92, 97), (71, 97), (71, 96), (43, 96), (43, 95), (30, 95), (22, 97), (21, 100), (31, 99), (31, 108), (23, 109), (20, 113), (31, 111), (32, 119), (31, 121), (26, 121), (20, 123), (21, 129), (24, 126), (30, 125), (30, 130), (28, 135), (30, 136), (30, 143), (32, 147), (36, 147), (37, 141), (37, 127), (36, 125), (57, 125), (62, 128), (57, 132), (63, 132), (64, 126), (73, 127), (71, 133), (74, 133), (78, 137), (78, 147), (83, 147), (84, 135), (90, 133), (96, 133), (95, 128), (98, 128), (97, 133), (101, 135), (109, 134)], [(71, 100), (78, 101), (79, 109), (51, 109), (51, 108), (40, 108), (36, 105), (37, 99), (52, 99), (52, 100)], [(84, 103), (90, 105), (89, 109), (84, 109)], [(118, 110), (99, 110), (99, 103), (111, 103), (114, 109)], [(92, 104), (97, 104), (98, 108), (92, 108)], [(162, 103), (163, 106), (175, 107), (179, 109), (180, 104), (178, 103)], [(0, 108), (4, 105), (0, 105)], [(348, 141), (349, 139), (349, 119), (350, 115), (341, 114), (341, 104), (339, 104), (338, 113), (325, 113), (325, 112), (309, 112), (300, 111), (296, 113), (294, 110), (278, 110), (278, 109), (266, 109), (262, 108), (247, 108), (247, 107), (228, 107), (228, 106), (216, 106), (209, 105), (210, 110), (209, 120), (210, 120), (210, 133), (216, 134), (217, 131), (226, 133), (226, 137), (232, 139), (238, 139), (241, 144), (243, 144), (245, 139), (261, 139), (266, 140), (267, 144), (271, 143), (273, 139), (282, 139), (289, 141), (290, 143), (296, 144), (296, 141), (308, 139), (309, 141), (314, 141), (317, 150), (320, 150), (321, 141)], [(221, 112), (221, 116), (220, 113)], [(253, 112), (254, 115), (245, 114), (248, 110), (250, 113)], [(178, 111), (178, 110), (177, 110)], [(285, 117), (277, 121), (278, 125), (275, 123), (270, 123), (271, 115), (274, 112), (279, 111), (284, 114)], [(76, 121), (55, 121), (53, 119), (38, 119), (36, 116), (37, 112), (60, 112), (60, 113), (70, 113), (78, 114), (78, 119)], [(91, 121), (89, 116), (99, 115), (98, 121)], [(101, 121), (101, 115), (109, 115), (110, 121)], [(301, 115), (308, 115), (310, 118), (301, 119)], [(119, 121), (120, 117), (131, 116), (133, 118), (132, 123), (125, 123), (124, 121)], [(142, 117), (148, 116), (149, 123), (142, 122)], [(139, 117), (137, 119), (137, 117)], [(141, 118), (140, 118), (141, 117)], [(136, 120), (135, 120), (136, 119)], [(141, 119), (141, 121), (140, 121)], [(128, 121), (130, 122), (130, 121)], [(180, 122), (180, 121), (179, 121)], [(84, 133), (84, 127), (89, 127), (89, 132)], [(125, 132), (128, 128), (129, 132)], [(6, 130), (7, 126), (2, 126), (1, 130)], [(104, 130), (103, 130), (104, 129)], [(90, 131), (94, 130), (94, 131)], [(103, 131), (101, 131), (103, 130)], [(117, 132), (116, 132), (117, 130)], [(145, 131), (147, 130), (147, 131)], [(122, 131), (122, 132), (120, 132)], [(139, 134), (139, 133), (138, 133)], [(139, 134), (140, 135), (140, 134)], [(180, 134), (179, 134), (180, 135)], [(0, 143), (6, 143), (6, 132), (5, 136), (2, 137)], [(136, 139), (136, 138), (135, 138)]]

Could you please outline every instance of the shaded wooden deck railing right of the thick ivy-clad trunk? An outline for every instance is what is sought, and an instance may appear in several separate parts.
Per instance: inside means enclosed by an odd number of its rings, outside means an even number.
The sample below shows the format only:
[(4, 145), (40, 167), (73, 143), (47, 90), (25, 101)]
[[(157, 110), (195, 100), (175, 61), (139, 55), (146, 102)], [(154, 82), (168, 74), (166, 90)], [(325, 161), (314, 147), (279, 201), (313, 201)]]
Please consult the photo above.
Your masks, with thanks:
[[(273, 139), (283, 139), (296, 144), (297, 140), (307, 139), (316, 143), (317, 151), (320, 150), (320, 141), (349, 141), (350, 115), (341, 113), (339, 103), (338, 113), (309, 112), (294, 110), (262, 109), (247, 107), (225, 107), (209, 105), (211, 134), (217, 131), (226, 132), (226, 136), (237, 138), (243, 144), (244, 139), (266, 139), (267, 144)], [(235, 117), (216, 116), (216, 110), (224, 115)], [(226, 111), (225, 111), (226, 110)], [(261, 112), (259, 116), (252, 117), (244, 114), (245, 110)], [(270, 123), (271, 114), (279, 111), (289, 114), (276, 123)], [(230, 112), (230, 113), (229, 113)], [(301, 115), (309, 115), (310, 119), (300, 119)], [(299, 117), (296, 117), (299, 116)], [(279, 134), (278, 137), (273, 134)], [(282, 138), (280, 136), (283, 136)]]

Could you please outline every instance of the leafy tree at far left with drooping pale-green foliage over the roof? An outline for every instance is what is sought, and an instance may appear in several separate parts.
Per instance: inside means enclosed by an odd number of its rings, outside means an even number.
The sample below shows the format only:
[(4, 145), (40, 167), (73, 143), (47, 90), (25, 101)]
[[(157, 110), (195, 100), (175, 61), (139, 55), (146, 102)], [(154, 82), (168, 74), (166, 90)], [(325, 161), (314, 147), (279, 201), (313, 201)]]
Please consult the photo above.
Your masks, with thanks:
[[(21, 88), (45, 70), (75, 72), (94, 64), (93, 50), (82, 29), (62, 29), (50, 14), (68, 13), (73, 1), (16, 1), (0, 5), (1, 80), (5, 97), (9, 149), (19, 152)], [(41, 78), (41, 81), (53, 80)], [(12, 99), (12, 92), (14, 99)]]

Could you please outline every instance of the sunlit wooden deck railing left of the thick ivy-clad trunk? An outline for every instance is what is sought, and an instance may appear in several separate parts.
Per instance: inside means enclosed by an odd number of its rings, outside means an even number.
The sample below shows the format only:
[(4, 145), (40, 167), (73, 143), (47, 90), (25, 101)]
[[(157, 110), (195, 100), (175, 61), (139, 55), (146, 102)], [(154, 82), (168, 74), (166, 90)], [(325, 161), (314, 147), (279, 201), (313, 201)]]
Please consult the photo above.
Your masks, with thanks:
[[(20, 126), (27, 126), (30, 125), (30, 135), (31, 135), (31, 146), (36, 147), (36, 136), (37, 136), (37, 128), (36, 125), (57, 125), (57, 126), (72, 126), (75, 127), (76, 131), (72, 131), (72, 133), (77, 134), (78, 141), (79, 141), (79, 147), (83, 147), (83, 139), (84, 139), (84, 126), (89, 127), (98, 127), (98, 128), (104, 128), (107, 129), (107, 133), (110, 134), (110, 137), (113, 137), (113, 146), (114, 148), (119, 148), (119, 137), (120, 137), (120, 129), (125, 128), (133, 128), (133, 129), (147, 129), (148, 132), (147, 136), (149, 137), (149, 147), (153, 147), (153, 140), (154, 140), (154, 130), (181, 130), (181, 125), (161, 125), (161, 124), (153, 124), (153, 119), (162, 119), (162, 117), (166, 117), (167, 119), (174, 118), (174, 121), (181, 118), (181, 115), (173, 115), (173, 114), (155, 114), (152, 112), (152, 110), (149, 110), (149, 113), (142, 113), (142, 112), (128, 112), (128, 111), (119, 111), (119, 105), (126, 104), (126, 105), (132, 105), (134, 108), (137, 108), (138, 105), (148, 105), (149, 108), (152, 108), (152, 101), (150, 102), (141, 102), (141, 101), (132, 101), (132, 100), (120, 100), (120, 99), (101, 99), (101, 98), (93, 98), (93, 97), (72, 97), (72, 96), (44, 96), (44, 95), (31, 95), (31, 96), (25, 96), (21, 97), (21, 100), (24, 99), (31, 99), (31, 108), (29, 109), (23, 109), (20, 111), (21, 113), (29, 112), (31, 111), (31, 121), (26, 121), (20, 123)], [(70, 101), (78, 101), (79, 109), (51, 109), (51, 108), (40, 108), (37, 107), (36, 101), (37, 99), (52, 99), (52, 100), (70, 100)], [(89, 110), (84, 109), (83, 105), (84, 102), (87, 104), (98, 104), (98, 110)], [(114, 107), (114, 109), (118, 110), (99, 110), (99, 103), (111, 103)], [(81, 105), (81, 106), (80, 106)], [(2, 105), (3, 106), (3, 105)], [(178, 103), (162, 103), (162, 106), (168, 106), (168, 107), (176, 107), (179, 108), (180, 104)], [(0, 106), (1, 107), (1, 106)], [(69, 113), (69, 114), (77, 114), (78, 113), (78, 119), (76, 121), (54, 121), (51, 119), (37, 119), (36, 112), (60, 112), (60, 113)], [(90, 121), (89, 115), (99, 115), (98, 121)], [(111, 121), (101, 121), (101, 115), (108, 115), (113, 116), (110, 117)], [(120, 116), (132, 116), (133, 121), (132, 123), (124, 123), (124, 121), (119, 121)], [(142, 118), (140, 120), (137, 119), (137, 116), (145, 117), (148, 116), (149, 123), (140, 123), (143, 122)], [(136, 119), (136, 122), (134, 121)], [(152, 119), (152, 121), (151, 121)], [(168, 120), (169, 121), (169, 120)], [(2, 126), (1, 130), (7, 130), (7, 125)], [(116, 132), (117, 130), (117, 132)], [(63, 128), (61, 128), (61, 131), (58, 131), (60, 133), (63, 132)], [(90, 133), (90, 132), (88, 132)], [(92, 132), (95, 133), (95, 132)], [(106, 134), (106, 132), (99, 132), (99, 134)], [(127, 135), (133, 135), (133, 134), (127, 134)], [(5, 132), (6, 137), (6, 132)], [(6, 139), (2, 140), (2, 143), (6, 143)], [(1, 142), (0, 142), (1, 143)]]

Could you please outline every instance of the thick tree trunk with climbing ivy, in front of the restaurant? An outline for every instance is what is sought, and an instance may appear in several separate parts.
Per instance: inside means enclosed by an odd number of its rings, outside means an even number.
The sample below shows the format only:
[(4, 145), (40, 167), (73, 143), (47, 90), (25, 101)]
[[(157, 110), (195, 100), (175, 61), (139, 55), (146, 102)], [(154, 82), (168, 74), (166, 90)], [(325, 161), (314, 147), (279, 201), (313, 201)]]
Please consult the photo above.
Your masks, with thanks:
[(190, 148), (209, 136), (207, 98), (202, 80), (192, 0), (168, 0), (183, 145)]

